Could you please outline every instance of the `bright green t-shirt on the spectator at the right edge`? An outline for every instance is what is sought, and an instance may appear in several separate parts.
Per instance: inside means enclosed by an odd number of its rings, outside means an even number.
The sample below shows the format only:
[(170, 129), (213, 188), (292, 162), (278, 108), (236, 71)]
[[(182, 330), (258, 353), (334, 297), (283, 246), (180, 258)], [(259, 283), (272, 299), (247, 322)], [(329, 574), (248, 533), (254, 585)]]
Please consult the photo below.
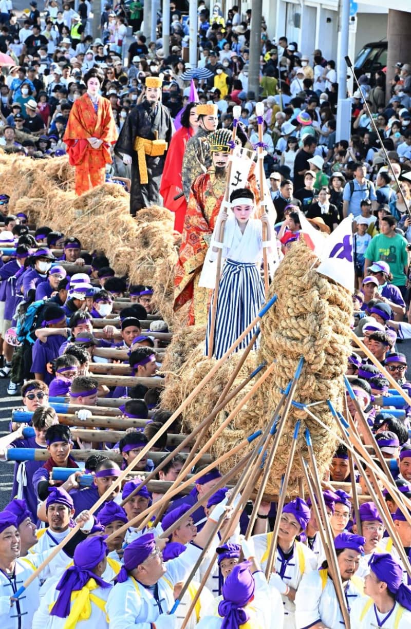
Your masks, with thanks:
[(384, 234), (374, 236), (365, 252), (365, 257), (372, 262), (384, 260), (390, 265), (394, 286), (405, 286), (407, 276), (404, 267), (408, 265), (407, 240), (395, 234), (393, 238), (387, 238)]

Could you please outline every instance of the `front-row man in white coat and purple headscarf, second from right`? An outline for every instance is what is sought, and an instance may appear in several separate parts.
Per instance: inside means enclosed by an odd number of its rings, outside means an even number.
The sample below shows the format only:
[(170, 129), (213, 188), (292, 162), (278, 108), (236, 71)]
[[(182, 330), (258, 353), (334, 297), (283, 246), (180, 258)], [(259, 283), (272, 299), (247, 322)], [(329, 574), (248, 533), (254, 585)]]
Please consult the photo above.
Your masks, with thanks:
[[(349, 609), (355, 601), (364, 601), (363, 582), (356, 576), (363, 545), (364, 538), (353, 533), (342, 532), (334, 538), (337, 569)], [(338, 629), (345, 626), (332, 570), (328, 562), (324, 561), (320, 570), (303, 575), (295, 596), (297, 629), (306, 627)], [(365, 627), (368, 628), (369, 625), (363, 625), (363, 628)]]

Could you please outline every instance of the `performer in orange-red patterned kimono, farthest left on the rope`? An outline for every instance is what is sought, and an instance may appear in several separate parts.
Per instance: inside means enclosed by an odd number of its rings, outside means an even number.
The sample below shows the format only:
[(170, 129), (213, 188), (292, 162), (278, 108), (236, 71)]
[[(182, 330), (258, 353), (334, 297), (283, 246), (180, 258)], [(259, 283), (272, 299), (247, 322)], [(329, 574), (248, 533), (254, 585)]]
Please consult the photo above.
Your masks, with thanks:
[(99, 96), (103, 73), (92, 68), (84, 75), (86, 94), (74, 101), (63, 141), (69, 162), (76, 167), (76, 194), (104, 184), (106, 164), (113, 161), (110, 146), (117, 139), (113, 111), (108, 99)]

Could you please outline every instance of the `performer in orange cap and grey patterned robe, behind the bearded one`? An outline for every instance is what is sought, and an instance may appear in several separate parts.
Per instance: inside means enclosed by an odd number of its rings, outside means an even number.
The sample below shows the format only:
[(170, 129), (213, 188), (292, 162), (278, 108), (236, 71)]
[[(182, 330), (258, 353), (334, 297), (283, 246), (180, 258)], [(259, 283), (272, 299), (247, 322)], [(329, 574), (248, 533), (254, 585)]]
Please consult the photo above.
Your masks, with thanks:
[(218, 125), (218, 108), (216, 104), (198, 104), (198, 131), (186, 143), (181, 181), (186, 201), (189, 201), (191, 186), (196, 178), (203, 174), (212, 164), (208, 136), (215, 132)]

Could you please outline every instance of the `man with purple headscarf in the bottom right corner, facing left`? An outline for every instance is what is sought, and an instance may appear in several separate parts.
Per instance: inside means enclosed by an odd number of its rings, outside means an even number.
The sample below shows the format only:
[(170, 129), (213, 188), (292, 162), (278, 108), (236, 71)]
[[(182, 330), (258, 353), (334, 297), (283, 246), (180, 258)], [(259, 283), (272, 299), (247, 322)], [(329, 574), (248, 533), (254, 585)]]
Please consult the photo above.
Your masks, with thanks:
[(367, 598), (352, 604), (351, 629), (406, 629), (411, 624), (411, 589), (403, 582), (402, 565), (389, 553), (375, 553), (368, 567), (364, 579)]

